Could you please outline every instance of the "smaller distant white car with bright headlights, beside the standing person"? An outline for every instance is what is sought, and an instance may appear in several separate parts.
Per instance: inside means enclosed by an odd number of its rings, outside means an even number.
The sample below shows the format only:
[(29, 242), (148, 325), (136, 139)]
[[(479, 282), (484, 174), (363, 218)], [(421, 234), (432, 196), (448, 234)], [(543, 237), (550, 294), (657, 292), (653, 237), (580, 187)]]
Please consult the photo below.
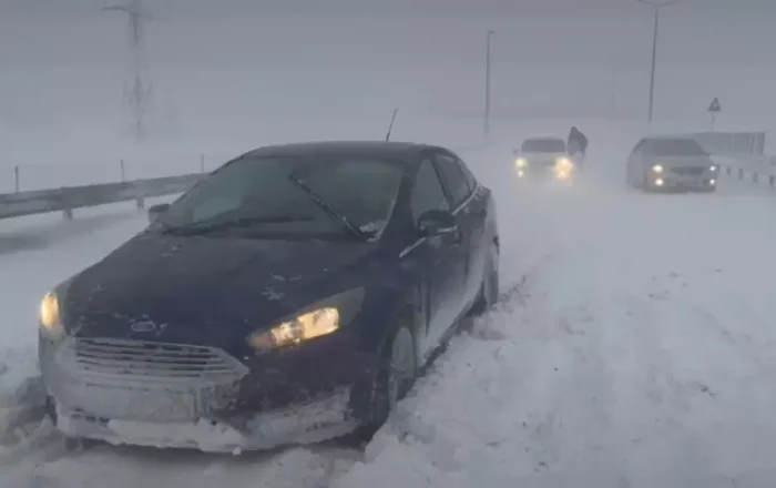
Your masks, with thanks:
[(527, 139), (513, 153), (519, 179), (572, 182), (576, 175), (576, 165), (560, 138)]

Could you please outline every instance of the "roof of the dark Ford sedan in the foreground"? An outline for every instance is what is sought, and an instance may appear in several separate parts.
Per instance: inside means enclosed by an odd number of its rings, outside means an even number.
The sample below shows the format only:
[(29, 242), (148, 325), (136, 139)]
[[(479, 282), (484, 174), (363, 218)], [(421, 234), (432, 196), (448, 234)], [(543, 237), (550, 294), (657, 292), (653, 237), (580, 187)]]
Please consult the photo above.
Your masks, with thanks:
[(384, 157), (406, 159), (423, 150), (442, 148), (415, 142), (395, 141), (316, 141), (290, 144), (265, 145), (244, 154), (247, 157), (282, 157), (320, 155), (364, 155), (375, 154)]

